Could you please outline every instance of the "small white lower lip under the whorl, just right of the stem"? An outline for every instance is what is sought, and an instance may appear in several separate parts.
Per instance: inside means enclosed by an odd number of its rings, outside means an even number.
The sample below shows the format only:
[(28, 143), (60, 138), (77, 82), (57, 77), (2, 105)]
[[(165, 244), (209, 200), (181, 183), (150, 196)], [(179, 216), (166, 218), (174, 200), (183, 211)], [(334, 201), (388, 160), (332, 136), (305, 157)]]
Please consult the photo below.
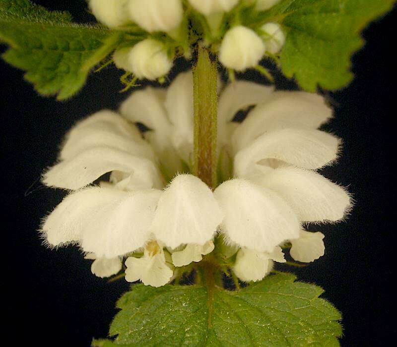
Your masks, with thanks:
[(261, 281), (272, 270), (273, 260), (285, 262), (281, 247), (275, 247), (270, 253), (243, 247), (237, 253), (233, 272), (244, 282)]

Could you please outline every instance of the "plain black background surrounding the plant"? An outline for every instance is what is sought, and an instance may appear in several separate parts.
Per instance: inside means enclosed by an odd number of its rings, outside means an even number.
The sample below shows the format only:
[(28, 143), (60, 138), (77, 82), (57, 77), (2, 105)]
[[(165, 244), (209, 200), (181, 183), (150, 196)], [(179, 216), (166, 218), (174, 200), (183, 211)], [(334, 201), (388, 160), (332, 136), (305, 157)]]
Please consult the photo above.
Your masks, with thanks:
[[(77, 21), (92, 20), (81, 10), (84, 0), (36, 3), (69, 10)], [(344, 146), (338, 164), (324, 174), (349, 184), (355, 208), (346, 223), (319, 228), (326, 234), (324, 257), (304, 269), (289, 269), (322, 286), (324, 297), (343, 313), (342, 346), (386, 346), (397, 330), (391, 173), (396, 19), (394, 10), (365, 30), (367, 45), (353, 58), (356, 78), (346, 89), (329, 93), (335, 118), (328, 128)], [(89, 346), (93, 337), (106, 336), (115, 301), (128, 289), (124, 281), (107, 284), (94, 277), (76, 248), (45, 248), (36, 231), (63, 196), (40, 184), (42, 170), (55, 161), (63, 135), (77, 119), (118, 107), (126, 97), (118, 93), (120, 74), (112, 68), (93, 74), (75, 98), (59, 103), (38, 96), (22, 81), (21, 71), (0, 61), (0, 269), (1, 287), (7, 289), (2, 339), (12, 341), (5, 346)], [(258, 74), (247, 76), (262, 81)]]

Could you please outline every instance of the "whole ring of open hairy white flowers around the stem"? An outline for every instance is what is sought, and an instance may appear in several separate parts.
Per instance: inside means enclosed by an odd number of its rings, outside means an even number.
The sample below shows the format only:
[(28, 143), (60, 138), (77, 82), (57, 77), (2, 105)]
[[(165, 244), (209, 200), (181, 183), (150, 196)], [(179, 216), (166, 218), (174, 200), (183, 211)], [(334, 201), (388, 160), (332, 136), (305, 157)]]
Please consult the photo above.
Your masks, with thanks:
[[(332, 114), (323, 97), (247, 81), (224, 86), (211, 190), (191, 173), (192, 95), (189, 71), (69, 131), (59, 162), (43, 175), (46, 185), (71, 191), (43, 222), (49, 245), (78, 245), (99, 277), (118, 273), (124, 261), (127, 281), (154, 287), (203, 257), (241, 281), (259, 281), (273, 262), (285, 262), (283, 248), (301, 262), (324, 254), (324, 235), (304, 226), (343, 220), (351, 201), (317, 172), (340, 148), (318, 130)], [(233, 120), (250, 106), (241, 123)], [(149, 130), (142, 135), (136, 123)]]

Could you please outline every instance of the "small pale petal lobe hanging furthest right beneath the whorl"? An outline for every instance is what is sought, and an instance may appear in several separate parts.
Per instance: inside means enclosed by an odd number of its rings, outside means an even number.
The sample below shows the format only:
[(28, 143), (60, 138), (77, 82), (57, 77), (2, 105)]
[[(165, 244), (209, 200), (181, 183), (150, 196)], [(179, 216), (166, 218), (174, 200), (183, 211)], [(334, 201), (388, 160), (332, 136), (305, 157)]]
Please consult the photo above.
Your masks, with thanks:
[(310, 263), (324, 255), (324, 234), (321, 232), (300, 231), (299, 238), (291, 240), (291, 257), (303, 263)]

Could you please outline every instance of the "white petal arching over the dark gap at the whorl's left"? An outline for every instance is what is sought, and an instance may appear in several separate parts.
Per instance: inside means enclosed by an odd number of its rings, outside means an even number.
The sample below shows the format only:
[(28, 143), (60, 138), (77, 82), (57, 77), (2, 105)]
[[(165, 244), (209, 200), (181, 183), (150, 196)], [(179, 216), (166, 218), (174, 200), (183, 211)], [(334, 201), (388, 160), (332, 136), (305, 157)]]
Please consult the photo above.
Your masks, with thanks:
[(162, 187), (160, 173), (152, 161), (108, 147), (88, 149), (53, 166), (44, 173), (43, 183), (76, 190), (112, 171), (132, 174), (136, 188)]

